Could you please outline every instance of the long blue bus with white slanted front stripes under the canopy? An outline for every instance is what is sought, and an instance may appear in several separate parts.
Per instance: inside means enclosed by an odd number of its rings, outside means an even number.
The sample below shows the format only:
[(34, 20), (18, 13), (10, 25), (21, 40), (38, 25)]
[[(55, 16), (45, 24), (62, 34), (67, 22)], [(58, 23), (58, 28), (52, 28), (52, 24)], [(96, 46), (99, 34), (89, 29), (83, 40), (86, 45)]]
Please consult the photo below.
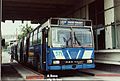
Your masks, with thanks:
[(94, 41), (90, 20), (50, 18), (18, 43), (19, 62), (37, 70), (94, 68)]

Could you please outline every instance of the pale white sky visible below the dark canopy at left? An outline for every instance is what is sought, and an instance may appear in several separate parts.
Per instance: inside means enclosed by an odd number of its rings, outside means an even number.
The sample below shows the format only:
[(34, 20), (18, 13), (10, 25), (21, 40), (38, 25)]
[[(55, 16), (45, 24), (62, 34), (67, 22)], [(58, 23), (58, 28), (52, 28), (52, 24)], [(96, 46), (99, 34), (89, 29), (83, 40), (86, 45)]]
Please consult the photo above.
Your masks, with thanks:
[(31, 25), (32, 28), (37, 27), (39, 24), (31, 24), (30, 21), (24, 21), (24, 23), (22, 23), (21, 21), (15, 21), (14, 23), (12, 21), (5, 21), (1, 22), (1, 30), (2, 30), (2, 35), (14, 35), (16, 34), (16, 30), (17, 33), (20, 33), (21, 27), (20, 25), (25, 25), (26, 23), (28, 23), (28, 25)]

